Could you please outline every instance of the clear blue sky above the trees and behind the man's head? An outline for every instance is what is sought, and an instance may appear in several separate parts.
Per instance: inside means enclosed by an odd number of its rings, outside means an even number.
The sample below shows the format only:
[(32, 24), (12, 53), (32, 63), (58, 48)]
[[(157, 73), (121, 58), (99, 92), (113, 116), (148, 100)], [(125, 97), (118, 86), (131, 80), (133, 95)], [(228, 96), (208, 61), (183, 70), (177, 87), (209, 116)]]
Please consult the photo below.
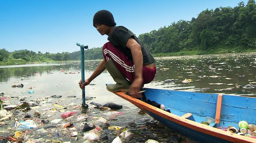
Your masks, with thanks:
[(134, 34), (190, 21), (208, 9), (235, 7), (247, 0), (0, 0), (0, 49), (73, 52), (76, 42), (101, 47), (107, 36), (93, 27), (93, 15), (111, 11), (117, 26)]

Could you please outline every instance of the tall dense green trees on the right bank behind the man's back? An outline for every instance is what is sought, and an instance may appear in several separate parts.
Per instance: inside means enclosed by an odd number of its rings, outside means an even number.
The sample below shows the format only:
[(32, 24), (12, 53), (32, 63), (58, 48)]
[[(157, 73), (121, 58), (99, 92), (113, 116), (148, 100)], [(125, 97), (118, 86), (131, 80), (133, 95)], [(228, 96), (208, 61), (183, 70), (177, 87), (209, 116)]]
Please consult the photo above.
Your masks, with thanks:
[(159, 30), (141, 34), (152, 53), (209, 50), (217, 47), (256, 48), (256, 6), (254, 0), (235, 8), (202, 11), (191, 21), (180, 20)]

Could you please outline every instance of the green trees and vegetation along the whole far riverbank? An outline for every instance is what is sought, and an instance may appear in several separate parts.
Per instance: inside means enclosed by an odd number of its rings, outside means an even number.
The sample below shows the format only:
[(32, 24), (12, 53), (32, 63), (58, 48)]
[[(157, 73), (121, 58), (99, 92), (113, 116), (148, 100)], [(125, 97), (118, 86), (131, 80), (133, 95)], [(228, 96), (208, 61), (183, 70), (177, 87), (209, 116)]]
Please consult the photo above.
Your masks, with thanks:
[[(171, 15), (170, 15), (171, 19)], [(141, 34), (138, 38), (154, 56), (203, 55), (256, 52), (256, 4), (248, 0), (235, 8), (206, 9), (191, 21)], [(41, 53), (0, 49), (0, 65), (79, 60), (80, 51)], [(85, 51), (85, 60), (103, 59), (102, 48)]]

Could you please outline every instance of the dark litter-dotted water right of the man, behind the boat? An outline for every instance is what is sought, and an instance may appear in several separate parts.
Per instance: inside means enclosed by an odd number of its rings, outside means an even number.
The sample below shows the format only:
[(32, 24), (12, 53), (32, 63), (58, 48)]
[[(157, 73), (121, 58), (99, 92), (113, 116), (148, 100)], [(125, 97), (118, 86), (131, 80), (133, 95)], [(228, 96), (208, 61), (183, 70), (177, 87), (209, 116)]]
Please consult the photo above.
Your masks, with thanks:
[[(159, 88), (256, 97), (256, 53), (157, 58), (155, 81), (174, 79)], [(182, 83), (192, 79), (190, 83)], [(246, 85), (251, 88), (243, 88)], [(239, 88), (240, 87), (240, 88)]]

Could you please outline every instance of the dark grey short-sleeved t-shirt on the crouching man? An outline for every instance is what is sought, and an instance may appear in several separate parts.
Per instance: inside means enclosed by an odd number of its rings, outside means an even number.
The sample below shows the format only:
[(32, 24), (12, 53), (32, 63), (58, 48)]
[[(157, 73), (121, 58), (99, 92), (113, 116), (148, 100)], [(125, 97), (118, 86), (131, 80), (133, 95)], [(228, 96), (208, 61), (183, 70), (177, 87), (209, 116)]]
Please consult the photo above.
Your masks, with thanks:
[(140, 44), (142, 48), (143, 64), (147, 65), (154, 63), (155, 59), (147, 49), (146, 45), (144, 45), (141, 40), (139, 40), (130, 30), (124, 26), (115, 26), (113, 32), (108, 37), (108, 40), (114, 45), (114, 47), (123, 52), (126, 56), (128, 56), (128, 59), (133, 62), (131, 50), (126, 47), (126, 43), (130, 38), (134, 38), (134, 40)]

